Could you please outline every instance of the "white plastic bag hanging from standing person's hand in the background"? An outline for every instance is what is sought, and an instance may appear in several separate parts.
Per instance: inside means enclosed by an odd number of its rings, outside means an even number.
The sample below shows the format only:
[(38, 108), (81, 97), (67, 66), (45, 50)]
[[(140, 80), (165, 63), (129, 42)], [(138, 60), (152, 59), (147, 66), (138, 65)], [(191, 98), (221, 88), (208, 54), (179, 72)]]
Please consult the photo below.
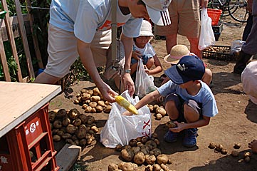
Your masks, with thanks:
[(201, 30), (199, 36), (198, 48), (203, 51), (205, 48), (215, 44), (214, 31), (211, 27), (211, 18), (207, 14), (207, 9), (201, 9)]

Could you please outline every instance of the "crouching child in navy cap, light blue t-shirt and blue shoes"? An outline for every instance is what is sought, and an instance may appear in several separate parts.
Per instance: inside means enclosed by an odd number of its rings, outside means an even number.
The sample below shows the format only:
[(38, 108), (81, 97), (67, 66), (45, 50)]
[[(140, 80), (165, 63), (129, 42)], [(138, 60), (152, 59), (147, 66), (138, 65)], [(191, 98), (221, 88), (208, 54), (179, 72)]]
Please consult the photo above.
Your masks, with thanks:
[[(177, 125), (164, 135), (167, 142), (175, 142), (184, 130), (183, 145), (196, 145), (197, 128), (209, 125), (211, 117), (218, 113), (214, 94), (201, 78), (204, 76), (203, 61), (197, 56), (184, 56), (177, 65), (164, 72), (170, 81), (145, 95), (136, 105), (139, 109), (163, 96), (164, 107), (170, 120)], [(132, 115), (125, 112), (124, 115)]]

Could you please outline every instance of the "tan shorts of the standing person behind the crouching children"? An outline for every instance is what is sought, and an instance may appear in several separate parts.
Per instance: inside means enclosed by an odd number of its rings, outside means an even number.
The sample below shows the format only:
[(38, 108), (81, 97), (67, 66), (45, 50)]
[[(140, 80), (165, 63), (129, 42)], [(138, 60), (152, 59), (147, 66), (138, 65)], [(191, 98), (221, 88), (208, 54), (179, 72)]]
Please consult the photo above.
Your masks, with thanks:
[(172, 0), (169, 5), (169, 16), (172, 24), (169, 26), (154, 26), (154, 33), (168, 36), (179, 33), (182, 36), (198, 38), (200, 31), (199, 0)]

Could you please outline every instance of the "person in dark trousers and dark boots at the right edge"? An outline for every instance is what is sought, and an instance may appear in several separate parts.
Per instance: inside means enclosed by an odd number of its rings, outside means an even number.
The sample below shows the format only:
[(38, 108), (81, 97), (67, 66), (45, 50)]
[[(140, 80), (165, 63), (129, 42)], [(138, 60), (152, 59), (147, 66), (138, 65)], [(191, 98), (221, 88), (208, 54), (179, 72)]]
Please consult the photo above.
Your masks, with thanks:
[(243, 44), (241, 51), (239, 52), (238, 61), (234, 66), (234, 73), (241, 74), (246, 68), (251, 56), (257, 53), (257, 1), (253, 0), (252, 6), (253, 26), (251, 32), (246, 38), (246, 43)]

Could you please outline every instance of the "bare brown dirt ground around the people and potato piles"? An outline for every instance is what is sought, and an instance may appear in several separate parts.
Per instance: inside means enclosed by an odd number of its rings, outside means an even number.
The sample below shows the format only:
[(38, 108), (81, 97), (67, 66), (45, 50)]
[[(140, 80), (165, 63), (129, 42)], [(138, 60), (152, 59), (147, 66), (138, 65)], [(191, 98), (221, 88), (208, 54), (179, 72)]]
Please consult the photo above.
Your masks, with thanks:
[[(234, 23), (230, 18), (223, 20), (224, 30), (219, 37), (216, 45), (230, 46), (232, 41), (241, 39), (245, 24)], [(179, 43), (189, 46), (187, 38), (179, 36)], [(166, 55), (165, 41), (156, 40), (152, 43), (157, 56), (164, 69), (169, 65), (163, 62)], [(172, 159), (172, 164), (168, 165), (171, 170), (257, 170), (257, 155), (251, 156), (251, 162), (243, 162), (243, 152), (249, 151), (248, 142), (257, 138), (257, 105), (251, 103), (248, 95), (243, 93), (241, 78), (232, 73), (235, 62), (218, 61), (214, 59), (204, 58), (207, 67), (213, 72), (213, 91), (216, 103), (218, 105), (219, 114), (211, 118), (211, 123), (203, 128), (199, 128), (199, 136), (197, 137), (197, 145), (193, 148), (182, 146), (182, 137), (174, 143), (164, 142), (163, 136), (167, 128), (165, 123), (169, 120), (168, 116), (162, 120), (154, 120), (152, 117), (152, 132), (158, 133), (161, 142), (159, 148), (162, 153), (167, 154)], [(158, 80), (162, 73), (155, 76)], [(73, 104), (76, 99), (75, 95), (83, 88), (94, 87), (95, 85), (89, 81), (80, 81), (70, 86), (61, 95), (51, 100), (50, 109), (64, 108), (70, 110), (77, 108), (83, 113), (83, 109), (79, 105)], [(105, 125), (108, 118), (106, 113), (93, 114), (98, 121), (97, 125), (100, 130)], [(119, 154), (113, 149), (104, 147), (99, 142), (90, 147), (85, 147), (80, 155), (78, 163), (83, 165), (84, 170), (100, 171), (107, 170), (110, 162), (120, 163)], [(209, 142), (221, 143), (229, 151), (227, 155), (216, 153), (209, 149)], [(241, 142), (239, 157), (232, 157), (231, 151), (234, 150), (234, 143)]]

